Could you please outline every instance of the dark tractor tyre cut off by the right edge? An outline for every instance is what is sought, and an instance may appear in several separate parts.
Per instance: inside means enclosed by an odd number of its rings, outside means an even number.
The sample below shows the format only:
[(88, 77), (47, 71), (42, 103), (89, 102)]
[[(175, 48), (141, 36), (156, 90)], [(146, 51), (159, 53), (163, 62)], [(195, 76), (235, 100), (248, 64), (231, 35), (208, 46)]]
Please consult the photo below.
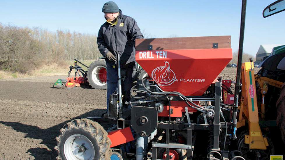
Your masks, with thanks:
[(285, 144), (285, 83), (281, 88), (280, 97), (276, 103), (276, 111), (276, 123), (281, 131), (281, 138)]

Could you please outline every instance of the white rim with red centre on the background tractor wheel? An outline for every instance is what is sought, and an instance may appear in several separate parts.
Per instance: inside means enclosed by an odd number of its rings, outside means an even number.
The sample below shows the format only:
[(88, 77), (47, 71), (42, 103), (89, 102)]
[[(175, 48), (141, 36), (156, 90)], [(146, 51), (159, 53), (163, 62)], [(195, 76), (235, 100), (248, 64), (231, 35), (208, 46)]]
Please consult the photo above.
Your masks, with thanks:
[[(92, 81), (98, 85), (98, 86), (104, 86), (107, 82), (107, 75), (100, 75), (100, 74), (105, 74), (105, 71), (102, 71), (102, 70), (105, 70), (106, 71), (106, 67), (104, 66), (97, 66), (95, 67), (93, 70), (92, 70)], [(100, 78), (102, 77), (102, 78)]]

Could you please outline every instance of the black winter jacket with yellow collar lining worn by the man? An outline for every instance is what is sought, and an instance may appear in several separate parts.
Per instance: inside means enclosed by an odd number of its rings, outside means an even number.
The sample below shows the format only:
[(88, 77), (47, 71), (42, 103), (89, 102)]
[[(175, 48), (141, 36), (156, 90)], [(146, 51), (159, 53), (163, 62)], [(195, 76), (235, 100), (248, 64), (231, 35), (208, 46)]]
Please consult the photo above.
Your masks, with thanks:
[[(143, 38), (137, 22), (132, 17), (123, 15), (120, 10), (117, 24), (105, 22), (99, 29), (98, 49), (104, 57), (109, 51), (116, 58), (119, 54), (122, 68), (132, 67), (135, 64), (135, 40), (137, 38)], [(111, 63), (107, 58), (106, 62)]]

